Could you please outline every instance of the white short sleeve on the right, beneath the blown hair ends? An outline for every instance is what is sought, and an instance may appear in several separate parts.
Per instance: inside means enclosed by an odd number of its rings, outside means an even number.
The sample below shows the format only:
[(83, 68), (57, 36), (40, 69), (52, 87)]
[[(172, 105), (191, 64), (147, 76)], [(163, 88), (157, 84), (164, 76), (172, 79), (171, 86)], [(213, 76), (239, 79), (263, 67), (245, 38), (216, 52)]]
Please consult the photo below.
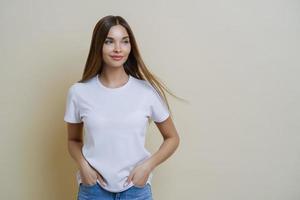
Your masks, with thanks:
[(170, 113), (168, 110), (168, 107), (166, 105), (166, 103), (163, 101), (163, 99), (160, 97), (160, 95), (158, 94), (158, 92), (151, 87), (151, 97), (150, 99), (150, 107), (151, 107), (151, 118), (153, 119), (153, 121), (155, 122), (163, 122), (165, 121)]

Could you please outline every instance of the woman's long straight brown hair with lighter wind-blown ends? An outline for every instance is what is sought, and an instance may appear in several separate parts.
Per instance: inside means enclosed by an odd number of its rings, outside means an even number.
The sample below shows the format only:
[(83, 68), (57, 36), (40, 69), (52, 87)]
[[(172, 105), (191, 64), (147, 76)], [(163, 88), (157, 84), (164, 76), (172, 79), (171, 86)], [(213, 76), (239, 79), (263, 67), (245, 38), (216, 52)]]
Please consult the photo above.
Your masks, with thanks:
[(91, 79), (95, 75), (101, 73), (103, 69), (103, 59), (102, 59), (103, 43), (108, 35), (110, 28), (115, 25), (122, 25), (127, 30), (127, 33), (129, 34), (131, 51), (127, 61), (124, 63), (125, 72), (137, 79), (148, 81), (153, 86), (153, 88), (158, 92), (160, 97), (163, 98), (171, 113), (171, 109), (164, 90), (167, 91), (172, 96), (174, 97), (176, 96), (172, 94), (172, 92), (170, 92), (169, 89), (167, 89), (165, 84), (163, 84), (158, 77), (156, 77), (152, 72), (150, 72), (149, 69), (147, 69), (140, 55), (133, 32), (129, 24), (121, 16), (113, 16), (113, 15), (105, 16), (102, 19), (100, 19), (95, 25), (92, 41), (90, 45), (90, 51), (87, 57), (82, 79), (78, 82), (84, 82), (86, 80)]

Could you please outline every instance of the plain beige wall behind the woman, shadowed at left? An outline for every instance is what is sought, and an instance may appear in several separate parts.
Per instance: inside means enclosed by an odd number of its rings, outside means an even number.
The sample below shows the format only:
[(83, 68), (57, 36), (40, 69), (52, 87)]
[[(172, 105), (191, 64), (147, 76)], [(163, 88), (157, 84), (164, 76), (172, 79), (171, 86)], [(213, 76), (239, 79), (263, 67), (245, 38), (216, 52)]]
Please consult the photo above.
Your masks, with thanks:
[[(75, 199), (66, 92), (108, 14), (189, 101), (169, 98), (181, 144), (155, 169), (155, 200), (300, 199), (296, 0), (2, 0), (0, 199)], [(152, 124), (148, 149), (161, 142)]]

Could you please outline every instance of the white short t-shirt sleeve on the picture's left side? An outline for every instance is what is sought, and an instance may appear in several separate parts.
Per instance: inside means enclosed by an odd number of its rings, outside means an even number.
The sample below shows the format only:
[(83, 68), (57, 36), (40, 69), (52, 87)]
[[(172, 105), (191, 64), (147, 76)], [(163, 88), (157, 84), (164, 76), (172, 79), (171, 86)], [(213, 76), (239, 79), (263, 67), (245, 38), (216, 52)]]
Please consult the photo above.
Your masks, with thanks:
[(81, 123), (74, 85), (69, 88), (67, 93), (64, 121), (70, 123)]

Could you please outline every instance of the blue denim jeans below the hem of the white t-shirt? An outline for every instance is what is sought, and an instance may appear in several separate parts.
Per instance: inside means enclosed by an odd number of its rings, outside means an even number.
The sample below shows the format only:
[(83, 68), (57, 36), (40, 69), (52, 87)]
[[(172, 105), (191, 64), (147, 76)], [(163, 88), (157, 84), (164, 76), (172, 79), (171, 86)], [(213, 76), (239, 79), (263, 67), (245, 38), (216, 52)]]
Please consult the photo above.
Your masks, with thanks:
[(122, 192), (104, 190), (98, 182), (94, 185), (80, 183), (77, 200), (153, 200), (151, 185), (132, 186)]

